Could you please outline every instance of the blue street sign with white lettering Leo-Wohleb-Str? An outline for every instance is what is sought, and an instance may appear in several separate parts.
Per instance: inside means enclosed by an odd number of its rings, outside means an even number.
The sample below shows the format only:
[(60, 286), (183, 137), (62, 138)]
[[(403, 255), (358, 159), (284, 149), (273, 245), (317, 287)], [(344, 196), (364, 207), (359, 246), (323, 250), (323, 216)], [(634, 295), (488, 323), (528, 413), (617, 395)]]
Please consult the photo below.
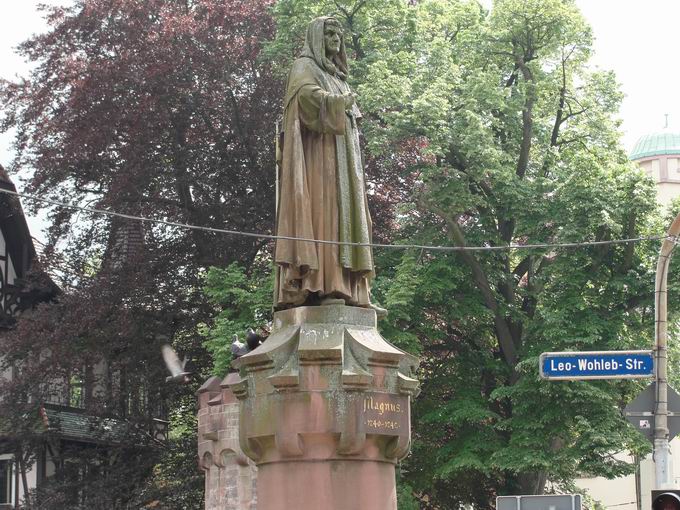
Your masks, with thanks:
[(539, 364), (544, 379), (637, 379), (654, 376), (652, 351), (544, 352)]

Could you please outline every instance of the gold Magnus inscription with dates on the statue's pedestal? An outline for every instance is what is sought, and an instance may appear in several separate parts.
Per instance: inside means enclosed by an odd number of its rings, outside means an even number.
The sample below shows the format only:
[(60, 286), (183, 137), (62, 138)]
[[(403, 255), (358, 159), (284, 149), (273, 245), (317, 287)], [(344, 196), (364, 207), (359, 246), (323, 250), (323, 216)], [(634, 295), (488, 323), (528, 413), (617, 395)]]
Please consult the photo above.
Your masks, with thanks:
[(408, 435), (410, 427), (408, 404), (407, 396), (365, 393), (359, 400), (359, 423), (369, 434)]

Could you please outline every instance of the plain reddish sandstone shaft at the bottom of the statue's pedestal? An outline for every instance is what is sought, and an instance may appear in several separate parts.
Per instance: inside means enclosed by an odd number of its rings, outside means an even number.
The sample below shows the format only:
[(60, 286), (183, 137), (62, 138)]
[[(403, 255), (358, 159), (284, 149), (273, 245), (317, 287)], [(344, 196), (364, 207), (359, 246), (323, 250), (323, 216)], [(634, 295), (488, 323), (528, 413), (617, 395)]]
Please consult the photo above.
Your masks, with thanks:
[(394, 464), (372, 461), (260, 465), (259, 507), (267, 510), (392, 510)]

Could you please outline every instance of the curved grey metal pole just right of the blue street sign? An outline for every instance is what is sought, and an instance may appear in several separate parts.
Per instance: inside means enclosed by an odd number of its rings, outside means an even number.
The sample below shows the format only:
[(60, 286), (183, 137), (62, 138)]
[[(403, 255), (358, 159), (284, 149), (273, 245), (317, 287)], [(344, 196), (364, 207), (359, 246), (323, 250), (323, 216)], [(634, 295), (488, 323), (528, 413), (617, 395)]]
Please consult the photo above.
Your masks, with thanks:
[(671, 262), (676, 238), (680, 235), (680, 214), (676, 216), (661, 245), (656, 265), (654, 288), (656, 339), (656, 402), (654, 409), (654, 462), (656, 488), (672, 489), (673, 463), (668, 444), (668, 266)]

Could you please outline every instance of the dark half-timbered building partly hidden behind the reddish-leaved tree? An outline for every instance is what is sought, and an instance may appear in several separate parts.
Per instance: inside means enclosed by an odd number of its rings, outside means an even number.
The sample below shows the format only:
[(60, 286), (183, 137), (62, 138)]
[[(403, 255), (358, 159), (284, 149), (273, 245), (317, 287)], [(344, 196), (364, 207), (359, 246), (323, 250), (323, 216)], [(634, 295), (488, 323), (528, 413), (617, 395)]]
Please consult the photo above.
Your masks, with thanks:
[[(2, 335), (14, 328), (22, 317), (38, 304), (55, 300), (60, 294), (59, 288), (37, 264), (36, 249), (18, 197), (2, 190), (16, 192), (0, 166), (0, 344)], [(134, 262), (143, 243), (141, 223), (114, 223), (103, 269), (124, 270), (126, 263)], [(8, 368), (0, 373), (0, 378), (11, 380), (15, 369)], [(129, 441), (130, 437), (140, 446), (166, 437), (167, 422), (160, 419), (164, 412), (159, 405), (154, 405), (159, 399), (149, 389), (148, 381), (129, 380), (114, 363), (105, 359), (61, 380), (41, 381), (41, 384), (46, 384), (49, 390), (40, 392), (39, 412), (26, 418), (35, 423), (36, 430), (44, 432), (39, 432), (44, 440), (38, 451), (32, 452), (33, 463), (22, 463), (14, 449), (12, 430), (0, 427), (0, 510), (18, 508), (27, 491), (40, 487), (69, 461), (68, 452), (96, 449), (106, 457), (109, 446)], [(107, 417), (91, 412), (97, 393), (115, 395), (113, 400), (120, 403)], [(34, 402), (35, 398), (28, 396)], [(140, 406), (154, 417), (148, 430), (131, 426), (126, 419), (130, 408)], [(139, 442), (134, 439), (137, 437)], [(81, 496), (75, 494), (74, 498), (80, 500)]]

